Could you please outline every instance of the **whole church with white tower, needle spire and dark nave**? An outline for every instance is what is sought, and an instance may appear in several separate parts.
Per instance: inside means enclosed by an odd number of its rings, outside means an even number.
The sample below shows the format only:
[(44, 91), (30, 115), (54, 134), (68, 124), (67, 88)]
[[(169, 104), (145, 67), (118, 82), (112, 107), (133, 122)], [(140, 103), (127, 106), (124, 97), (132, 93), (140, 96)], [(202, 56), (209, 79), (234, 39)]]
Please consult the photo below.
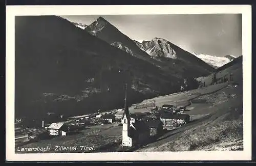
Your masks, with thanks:
[[(141, 121), (131, 118), (127, 106), (127, 85), (125, 88), (124, 113), (121, 123), (122, 129), (122, 146), (132, 147), (136, 144), (143, 144), (150, 139), (150, 128)], [(131, 120), (132, 119), (132, 120)]]

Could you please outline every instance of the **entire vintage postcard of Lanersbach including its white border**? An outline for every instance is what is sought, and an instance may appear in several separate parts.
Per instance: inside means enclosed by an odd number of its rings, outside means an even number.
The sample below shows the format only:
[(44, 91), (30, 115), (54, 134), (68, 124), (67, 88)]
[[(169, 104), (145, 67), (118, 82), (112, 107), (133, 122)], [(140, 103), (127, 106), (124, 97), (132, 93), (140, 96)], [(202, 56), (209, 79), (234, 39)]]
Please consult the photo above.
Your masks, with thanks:
[(7, 6), (8, 161), (250, 160), (251, 7)]

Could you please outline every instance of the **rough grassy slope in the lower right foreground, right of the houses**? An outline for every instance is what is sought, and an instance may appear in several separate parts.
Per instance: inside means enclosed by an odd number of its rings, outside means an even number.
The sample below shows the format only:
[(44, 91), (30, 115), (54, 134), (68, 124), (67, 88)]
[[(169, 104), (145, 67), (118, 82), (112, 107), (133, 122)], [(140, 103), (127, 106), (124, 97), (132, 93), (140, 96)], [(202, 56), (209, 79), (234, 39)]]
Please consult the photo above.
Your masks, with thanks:
[[(209, 87), (214, 90), (217, 86), (222, 84)], [(243, 150), (243, 87), (219, 87), (215, 93), (209, 93), (209, 87), (196, 90), (208, 93), (197, 98), (204, 102), (192, 102), (188, 107), (186, 113), (194, 122), (137, 151)], [(232, 94), (236, 97), (230, 97)]]

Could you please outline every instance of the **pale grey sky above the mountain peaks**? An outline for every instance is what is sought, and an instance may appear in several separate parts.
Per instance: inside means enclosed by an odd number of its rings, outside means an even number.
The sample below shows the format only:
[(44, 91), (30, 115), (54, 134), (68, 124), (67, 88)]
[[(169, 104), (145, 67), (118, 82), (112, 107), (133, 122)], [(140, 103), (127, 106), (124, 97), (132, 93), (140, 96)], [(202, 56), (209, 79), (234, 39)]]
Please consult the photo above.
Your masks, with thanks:
[(242, 55), (241, 14), (61, 16), (89, 25), (99, 16), (133, 40), (164, 38), (188, 52), (224, 57)]

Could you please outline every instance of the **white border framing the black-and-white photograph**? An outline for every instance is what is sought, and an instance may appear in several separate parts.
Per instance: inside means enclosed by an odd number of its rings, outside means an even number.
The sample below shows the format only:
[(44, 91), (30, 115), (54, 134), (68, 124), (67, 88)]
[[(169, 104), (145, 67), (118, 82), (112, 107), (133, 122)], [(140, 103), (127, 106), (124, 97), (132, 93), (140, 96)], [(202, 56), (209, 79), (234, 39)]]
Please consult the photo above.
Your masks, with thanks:
[[(15, 154), (14, 152), (14, 17), (18, 15), (242, 14), (244, 151), (111, 152)], [(33, 30), (31, 30), (33, 31)], [(7, 161), (129, 161), (251, 159), (251, 6), (7, 6), (6, 7), (6, 160)]]

